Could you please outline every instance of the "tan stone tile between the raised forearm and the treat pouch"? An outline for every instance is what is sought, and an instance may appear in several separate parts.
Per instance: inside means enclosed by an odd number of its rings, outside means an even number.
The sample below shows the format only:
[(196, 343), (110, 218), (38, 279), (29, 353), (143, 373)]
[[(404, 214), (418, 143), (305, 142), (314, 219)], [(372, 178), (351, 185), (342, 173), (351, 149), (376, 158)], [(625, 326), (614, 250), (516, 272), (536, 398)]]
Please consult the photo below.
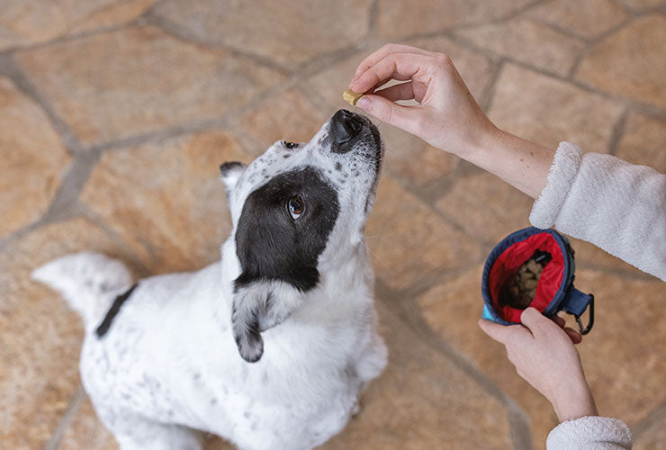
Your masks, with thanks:
[(494, 245), (510, 233), (530, 226), (533, 202), (497, 176), (482, 173), (457, 180), (453, 189), (437, 202), (437, 208), (469, 234)]

